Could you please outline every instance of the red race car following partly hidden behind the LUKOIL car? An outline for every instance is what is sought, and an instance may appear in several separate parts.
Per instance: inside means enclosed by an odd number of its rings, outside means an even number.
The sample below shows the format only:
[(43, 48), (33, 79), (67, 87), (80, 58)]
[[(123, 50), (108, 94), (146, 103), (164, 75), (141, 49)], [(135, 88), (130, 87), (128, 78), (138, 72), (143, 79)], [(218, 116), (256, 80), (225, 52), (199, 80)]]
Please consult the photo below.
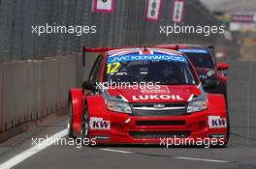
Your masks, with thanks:
[[(200, 44), (163, 44), (159, 46), (178, 46), (178, 51), (184, 53), (192, 62), (202, 81), (204, 89), (210, 94), (223, 94), (228, 103), (227, 76), (223, 70), (228, 70), (226, 63), (216, 62), (216, 57), (211, 51), (212, 46)], [(207, 81), (216, 81), (215, 85), (208, 87)], [(212, 83), (213, 84), (213, 83)]]

